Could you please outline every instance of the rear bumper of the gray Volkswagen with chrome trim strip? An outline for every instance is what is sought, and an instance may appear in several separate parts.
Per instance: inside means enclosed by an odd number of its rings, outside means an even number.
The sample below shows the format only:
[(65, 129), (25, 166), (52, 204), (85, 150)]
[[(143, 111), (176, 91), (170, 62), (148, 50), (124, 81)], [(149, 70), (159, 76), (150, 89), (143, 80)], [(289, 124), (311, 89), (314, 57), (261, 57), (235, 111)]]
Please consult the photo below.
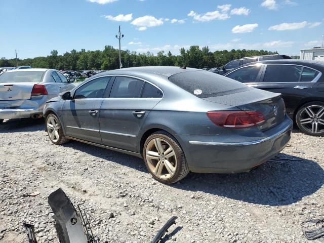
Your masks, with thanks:
[[(285, 120), (258, 139), (242, 142), (217, 141), (217, 136), (180, 135), (185, 143), (186, 159), (192, 172), (239, 173), (265, 163), (285, 148), (291, 137), (292, 120)], [(205, 140), (201, 139), (205, 138)]]

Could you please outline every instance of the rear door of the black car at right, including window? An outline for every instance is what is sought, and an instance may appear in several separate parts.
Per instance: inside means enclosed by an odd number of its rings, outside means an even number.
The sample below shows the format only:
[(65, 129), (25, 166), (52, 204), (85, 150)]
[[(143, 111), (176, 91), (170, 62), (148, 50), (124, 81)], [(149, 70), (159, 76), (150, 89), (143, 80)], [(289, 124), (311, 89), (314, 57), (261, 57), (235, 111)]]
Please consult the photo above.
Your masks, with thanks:
[(258, 88), (281, 93), (288, 113), (293, 113), (302, 99), (311, 97), (316, 90), (319, 72), (304, 66), (290, 64), (267, 64)]

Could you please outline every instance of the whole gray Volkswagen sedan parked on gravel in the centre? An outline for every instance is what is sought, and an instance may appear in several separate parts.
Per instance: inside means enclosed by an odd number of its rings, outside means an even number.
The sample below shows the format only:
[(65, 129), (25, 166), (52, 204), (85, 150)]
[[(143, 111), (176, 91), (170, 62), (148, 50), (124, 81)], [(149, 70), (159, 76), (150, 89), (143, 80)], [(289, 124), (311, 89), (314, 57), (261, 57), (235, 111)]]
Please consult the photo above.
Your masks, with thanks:
[(72, 140), (143, 157), (175, 183), (189, 171), (247, 172), (279, 153), (292, 120), (280, 94), (193, 68), (103, 72), (47, 102), (54, 144)]

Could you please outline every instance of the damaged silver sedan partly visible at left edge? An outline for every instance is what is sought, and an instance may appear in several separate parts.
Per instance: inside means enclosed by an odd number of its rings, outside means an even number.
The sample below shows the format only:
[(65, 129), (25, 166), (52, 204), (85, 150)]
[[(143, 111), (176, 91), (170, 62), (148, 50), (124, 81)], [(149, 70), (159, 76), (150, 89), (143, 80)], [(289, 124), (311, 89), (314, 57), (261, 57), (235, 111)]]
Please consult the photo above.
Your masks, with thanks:
[(42, 117), (48, 100), (74, 87), (54, 69), (29, 68), (4, 72), (0, 74), (0, 124), (4, 119)]

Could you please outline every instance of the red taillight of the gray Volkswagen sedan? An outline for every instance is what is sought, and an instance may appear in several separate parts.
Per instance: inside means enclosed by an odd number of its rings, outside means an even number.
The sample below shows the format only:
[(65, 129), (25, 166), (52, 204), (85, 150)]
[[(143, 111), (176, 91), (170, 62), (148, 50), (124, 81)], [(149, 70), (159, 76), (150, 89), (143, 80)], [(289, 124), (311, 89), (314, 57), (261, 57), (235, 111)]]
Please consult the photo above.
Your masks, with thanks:
[(225, 128), (250, 128), (265, 121), (258, 111), (208, 111), (207, 116), (214, 124)]

